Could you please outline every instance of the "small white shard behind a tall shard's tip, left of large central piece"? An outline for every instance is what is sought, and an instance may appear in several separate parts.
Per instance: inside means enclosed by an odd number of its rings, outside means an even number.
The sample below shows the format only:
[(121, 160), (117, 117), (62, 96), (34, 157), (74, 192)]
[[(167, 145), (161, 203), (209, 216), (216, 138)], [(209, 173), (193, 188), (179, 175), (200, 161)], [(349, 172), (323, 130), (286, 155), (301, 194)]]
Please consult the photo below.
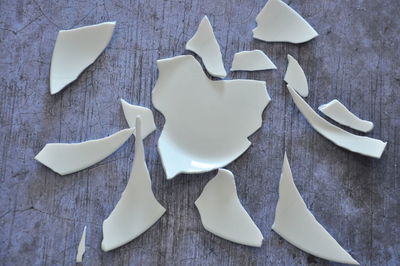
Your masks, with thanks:
[[(153, 112), (146, 107), (129, 104), (121, 99), (122, 109), (124, 110), (125, 119), (130, 128), (135, 128), (136, 117), (139, 115), (142, 119), (142, 136), (145, 139), (150, 133), (156, 130)], [(136, 136), (136, 133), (133, 133)]]

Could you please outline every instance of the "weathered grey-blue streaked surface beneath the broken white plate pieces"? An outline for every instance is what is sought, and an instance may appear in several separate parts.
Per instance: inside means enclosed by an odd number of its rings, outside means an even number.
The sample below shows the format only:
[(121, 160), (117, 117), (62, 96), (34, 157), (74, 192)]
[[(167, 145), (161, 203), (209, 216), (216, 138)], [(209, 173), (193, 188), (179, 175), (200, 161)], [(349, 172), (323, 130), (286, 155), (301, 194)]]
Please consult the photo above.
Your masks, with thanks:
[[(260, 1), (0, 2), (0, 264), (71, 265), (83, 227), (84, 265), (332, 265), (270, 230), (286, 150), (295, 182), (316, 218), (362, 265), (400, 264), (399, 1), (290, 1), (320, 33), (302, 45), (252, 39)], [(227, 168), (239, 197), (264, 234), (262, 248), (205, 231), (195, 199), (215, 172), (167, 181), (156, 151), (164, 119), (145, 140), (156, 197), (167, 213), (112, 252), (100, 250), (101, 224), (125, 188), (133, 138), (97, 165), (59, 176), (33, 158), (47, 142), (78, 142), (126, 128), (119, 99), (148, 107), (155, 61), (187, 53), (186, 41), (208, 15), (225, 66), (246, 49), (265, 51), (277, 71), (228, 78), (266, 80), (272, 102), (253, 146)], [(60, 29), (116, 20), (98, 60), (67, 89), (49, 94), (49, 67)], [(380, 160), (353, 154), (316, 133), (282, 81), (286, 54), (307, 73), (315, 109), (334, 98), (375, 123), (388, 141)], [(154, 109), (153, 109), (154, 110)]]

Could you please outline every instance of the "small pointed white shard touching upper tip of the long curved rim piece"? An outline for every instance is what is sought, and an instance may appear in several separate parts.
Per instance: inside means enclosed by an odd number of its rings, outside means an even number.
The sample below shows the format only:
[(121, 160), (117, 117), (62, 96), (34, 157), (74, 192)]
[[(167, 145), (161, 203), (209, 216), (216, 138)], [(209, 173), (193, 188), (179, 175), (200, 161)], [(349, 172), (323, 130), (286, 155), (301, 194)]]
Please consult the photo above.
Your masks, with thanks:
[(296, 59), (288, 54), (288, 67), (286, 69), (285, 77), (283, 78), (286, 83), (295, 89), (301, 96), (308, 96), (307, 78), (303, 69)]

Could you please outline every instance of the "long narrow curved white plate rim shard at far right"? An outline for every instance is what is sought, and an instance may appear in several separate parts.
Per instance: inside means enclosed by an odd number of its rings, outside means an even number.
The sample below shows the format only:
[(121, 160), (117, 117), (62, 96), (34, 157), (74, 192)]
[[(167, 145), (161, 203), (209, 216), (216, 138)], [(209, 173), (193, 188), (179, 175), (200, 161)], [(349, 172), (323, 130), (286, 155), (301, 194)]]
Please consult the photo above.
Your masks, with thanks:
[(351, 134), (320, 117), (297, 92), (287, 86), (297, 108), (304, 115), (311, 126), (322, 136), (336, 145), (349, 151), (373, 158), (380, 158), (386, 147), (386, 142), (369, 137)]

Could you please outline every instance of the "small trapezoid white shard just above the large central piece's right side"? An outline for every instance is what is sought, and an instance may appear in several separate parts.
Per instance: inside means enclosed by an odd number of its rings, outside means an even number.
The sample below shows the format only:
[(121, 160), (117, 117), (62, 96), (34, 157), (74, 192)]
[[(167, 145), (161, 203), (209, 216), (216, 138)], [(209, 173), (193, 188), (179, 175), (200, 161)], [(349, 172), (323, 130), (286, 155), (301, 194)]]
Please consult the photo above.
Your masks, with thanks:
[(242, 51), (233, 57), (231, 71), (257, 71), (276, 69), (275, 64), (261, 50)]

